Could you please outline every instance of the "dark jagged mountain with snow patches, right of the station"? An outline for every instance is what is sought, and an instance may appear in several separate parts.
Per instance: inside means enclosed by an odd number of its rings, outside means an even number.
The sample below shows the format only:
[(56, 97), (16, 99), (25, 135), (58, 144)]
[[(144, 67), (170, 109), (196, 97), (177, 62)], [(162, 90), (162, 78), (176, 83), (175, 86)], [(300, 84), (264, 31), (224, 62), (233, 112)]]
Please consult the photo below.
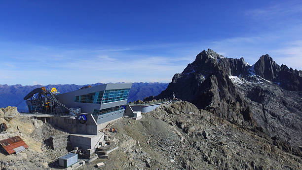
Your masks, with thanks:
[(167, 89), (148, 99), (175, 97), (237, 124), (249, 123), (271, 137), (302, 144), (302, 71), (281, 67), (265, 54), (249, 65), (208, 49)]

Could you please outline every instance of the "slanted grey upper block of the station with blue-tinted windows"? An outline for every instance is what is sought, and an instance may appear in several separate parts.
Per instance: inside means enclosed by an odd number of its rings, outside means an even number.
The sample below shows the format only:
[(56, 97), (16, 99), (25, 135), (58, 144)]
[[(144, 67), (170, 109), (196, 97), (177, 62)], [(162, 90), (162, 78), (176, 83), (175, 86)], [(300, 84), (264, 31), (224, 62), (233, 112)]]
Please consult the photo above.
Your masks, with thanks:
[[(104, 84), (56, 95), (68, 108), (81, 108), (93, 115), (97, 124), (121, 118), (132, 83)], [(65, 110), (68, 112), (68, 110)]]

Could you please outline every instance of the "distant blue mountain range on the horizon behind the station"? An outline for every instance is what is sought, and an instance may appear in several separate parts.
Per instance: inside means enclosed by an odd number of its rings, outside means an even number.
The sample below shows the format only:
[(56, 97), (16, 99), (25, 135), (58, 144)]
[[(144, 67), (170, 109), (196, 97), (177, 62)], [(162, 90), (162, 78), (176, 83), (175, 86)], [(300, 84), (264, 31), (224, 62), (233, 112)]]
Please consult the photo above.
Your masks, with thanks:
[[(101, 83), (91, 86), (102, 85)], [(44, 86), (46, 89), (57, 88), (58, 92), (65, 93), (75, 91), (87, 85), (0, 85), (0, 108), (7, 106), (18, 106), (18, 110), (25, 111), (27, 106), (23, 99), (33, 89)], [(167, 83), (133, 83), (130, 89), (128, 102), (143, 100), (147, 96), (157, 95), (166, 89)]]

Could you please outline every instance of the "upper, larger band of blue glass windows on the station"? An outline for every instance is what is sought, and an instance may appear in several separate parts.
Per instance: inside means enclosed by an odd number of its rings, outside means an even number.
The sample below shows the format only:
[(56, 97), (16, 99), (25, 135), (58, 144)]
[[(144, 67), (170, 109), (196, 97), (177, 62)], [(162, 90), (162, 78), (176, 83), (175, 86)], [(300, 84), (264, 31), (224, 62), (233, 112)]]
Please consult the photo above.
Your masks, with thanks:
[(130, 88), (105, 90), (105, 92), (97, 91), (76, 96), (75, 102), (104, 104), (114, 101), (126, 100), (128, 98), (129, 91)]

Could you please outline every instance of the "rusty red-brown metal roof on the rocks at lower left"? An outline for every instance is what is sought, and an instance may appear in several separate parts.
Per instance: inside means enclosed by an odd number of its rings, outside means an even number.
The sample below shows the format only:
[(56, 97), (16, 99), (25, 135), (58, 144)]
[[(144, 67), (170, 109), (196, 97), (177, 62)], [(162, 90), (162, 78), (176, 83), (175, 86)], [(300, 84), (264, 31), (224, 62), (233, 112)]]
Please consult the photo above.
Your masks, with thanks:
[[(18, 152), (20, 148), (28, 148), (27, 144), (19, 137), (11, 137), (0, 141), (0, 146), (8, 153)], [(22, 146), (22, 147), (21, 147)]]

